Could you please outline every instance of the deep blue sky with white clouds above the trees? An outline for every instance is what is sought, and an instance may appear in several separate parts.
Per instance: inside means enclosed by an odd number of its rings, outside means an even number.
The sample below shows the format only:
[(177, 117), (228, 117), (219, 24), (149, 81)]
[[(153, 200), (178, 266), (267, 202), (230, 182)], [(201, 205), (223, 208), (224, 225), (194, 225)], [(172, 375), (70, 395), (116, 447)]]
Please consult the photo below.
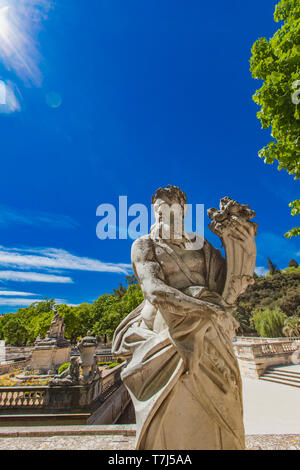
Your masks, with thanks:
[(150, 207), (167, 184), (206, 208), (249, 204), (260, 272), (299, 260), (283, 236), (296, 183), (258, 158), (270, 132), (251, 99), (250, 49), (278, 28), (275, 3), (0, 0), (0, 313), (112, 291), (132, 240), (99, 240), (96, 208)]

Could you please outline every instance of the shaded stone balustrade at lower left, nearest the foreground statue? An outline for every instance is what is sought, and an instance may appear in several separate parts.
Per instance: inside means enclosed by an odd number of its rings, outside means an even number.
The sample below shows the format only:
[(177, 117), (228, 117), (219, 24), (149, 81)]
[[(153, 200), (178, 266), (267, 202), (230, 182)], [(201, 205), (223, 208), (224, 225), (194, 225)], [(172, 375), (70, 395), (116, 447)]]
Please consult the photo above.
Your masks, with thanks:
[(90, 410), (120, 387), (124, 365), (116, 366), (89, 385), (0, 387), (0, 414), (8, 410)]

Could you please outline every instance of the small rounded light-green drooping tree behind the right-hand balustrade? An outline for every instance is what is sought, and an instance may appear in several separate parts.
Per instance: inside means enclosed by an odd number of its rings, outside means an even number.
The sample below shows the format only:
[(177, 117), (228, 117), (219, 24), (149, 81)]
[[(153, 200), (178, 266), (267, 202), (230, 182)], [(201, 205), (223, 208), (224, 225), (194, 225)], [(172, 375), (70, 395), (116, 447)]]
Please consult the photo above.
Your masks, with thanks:
[(252, 317), (252, 323), (257, 333), (264, 338), (282, 336), (282, 328), (286, 315), (278, 308), (259, 310)]

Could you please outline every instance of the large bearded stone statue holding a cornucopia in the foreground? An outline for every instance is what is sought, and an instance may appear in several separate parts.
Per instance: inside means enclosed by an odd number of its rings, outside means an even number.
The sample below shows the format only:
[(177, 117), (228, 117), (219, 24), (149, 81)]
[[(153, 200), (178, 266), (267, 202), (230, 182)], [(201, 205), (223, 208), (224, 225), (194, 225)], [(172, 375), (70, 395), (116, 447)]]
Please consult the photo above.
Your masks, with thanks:
[(156, 222), (131, 253), (145, 300), (113, 338), (113, 352), (128, 362), (122, 379), (135, 407), (137, 448), (244, 449), (231, 313), (253, 279), (255, 213), (230, 198), (209, 211), (224, 260), (206, 240), (191, 249), (179, 188), (159, 188), (152, 202)]

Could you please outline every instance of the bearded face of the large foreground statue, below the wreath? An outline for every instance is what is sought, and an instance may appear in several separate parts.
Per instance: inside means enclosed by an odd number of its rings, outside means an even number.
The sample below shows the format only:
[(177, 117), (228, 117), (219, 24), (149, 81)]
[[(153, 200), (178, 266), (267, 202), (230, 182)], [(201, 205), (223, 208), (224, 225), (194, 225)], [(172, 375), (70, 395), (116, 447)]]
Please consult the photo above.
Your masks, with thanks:
[(157, 199), (154, 203), (154, 215), (156, 221), (161, 226), (163, 239), (181, 240), (184, 235), (184, 216), (186, 207), (176, 200), (172, 204), (162, 199)]

